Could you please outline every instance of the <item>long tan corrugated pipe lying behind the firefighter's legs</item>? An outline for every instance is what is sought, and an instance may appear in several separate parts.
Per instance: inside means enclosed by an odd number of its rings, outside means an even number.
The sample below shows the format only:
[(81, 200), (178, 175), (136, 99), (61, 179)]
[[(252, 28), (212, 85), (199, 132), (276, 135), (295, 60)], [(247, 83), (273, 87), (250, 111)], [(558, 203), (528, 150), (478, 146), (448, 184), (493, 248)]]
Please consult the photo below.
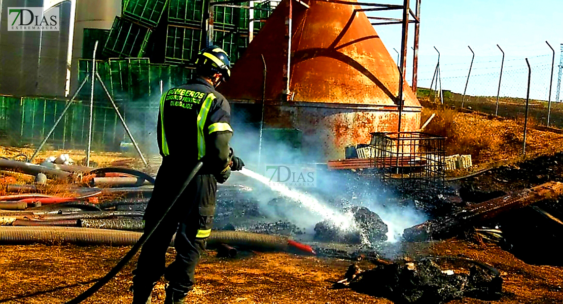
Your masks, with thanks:
[[(63, 222), (61, 222), (63, 223)], [(77, 227), (10, 227), (0, 226), (0, 244), (74, 243), (87, 245), (130, 246), (141, 237), (141, 232)], [(207, 239), (209, 246), (230, 246), (257, 250), (284, 251), (288, 237), (252, 232), (212, 230)]]

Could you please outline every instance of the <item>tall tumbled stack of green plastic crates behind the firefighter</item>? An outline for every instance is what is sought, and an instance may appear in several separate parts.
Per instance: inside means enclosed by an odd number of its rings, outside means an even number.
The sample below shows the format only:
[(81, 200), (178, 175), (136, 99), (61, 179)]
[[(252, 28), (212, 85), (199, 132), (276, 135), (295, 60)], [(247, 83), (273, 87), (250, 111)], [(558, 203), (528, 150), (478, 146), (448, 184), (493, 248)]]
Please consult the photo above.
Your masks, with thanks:
[[(195, 57), (207, 45), (203, 30), (209, 0), (124, 0), (122, 14), (115, 17), (110, 30), (84, 29), (83, 58), (78, 64), (79, 83), (88, 77), (78, 98), (90, 101), (92, 53), (98, 40), (96, 70), (118, 103), (138, 143), (154, 146), (154, 129), (162, 92), (185, 84), (194, 71)], [(248, 2), (240, 3), (248, 6)], [(256, 7), (269, 8), (271, 2), (256, 2)], [(254, 10), (253, 18), (262, 19), (269, 11)], [(250, 14), (247, 8), (215, 6), (213, 8), (213, 43), (223, 48), (234, 63), (248, 47)], [(252, 21), (254, 22), (254, 21)], [(254, 33), (261, 28), (254, 22)], [(99, 59), (99, 60), (98, 60)], [(101, 85), (95, 85), (95, 108), (110, 108)], [(111, 109), (111, 108), (110, 108)], [(76, 112), (81, 120), (82, 112)], [(112, 110), (113, 111), (113, 110)], [(101, 113), (104, 115), (101, 115)], [(30, 113), (29, 111), (26, 113)], [(97, 119), (97, 118), (96, 118)], [(101, 118), (100, 118), (101, 119)], [(105, 130), (106, 122), (95, 124)], [(119, 127), (118, 127), (119, 129)], [(119, 129), (120, 130), (120, 129)], [(115, 128), (110, 130), (115, 133)], [(41, 134), (33, 134), (33, 137)], [(72, 135), (77, 138), (77, 134)], [(117, 134), (119, 138), (122, 133)], [(115, 144), (115, 137), (111, 144)], [(77, 142), (81, 142), (82, 134)], [(100, 144), (108, 144), (103, 139)]]

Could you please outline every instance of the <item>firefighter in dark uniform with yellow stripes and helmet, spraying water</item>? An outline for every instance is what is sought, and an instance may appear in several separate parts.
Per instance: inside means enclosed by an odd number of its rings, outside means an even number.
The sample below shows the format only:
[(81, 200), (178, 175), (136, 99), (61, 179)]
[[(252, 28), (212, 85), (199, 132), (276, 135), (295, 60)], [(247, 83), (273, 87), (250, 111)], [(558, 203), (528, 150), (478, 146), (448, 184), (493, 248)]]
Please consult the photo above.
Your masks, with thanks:
[[(160, 99), (157, 137), (162, 165), (143, 217), (145, 229), (163, 215), (195, 164), (204, 165), (142, 247), (133, 270), (133, 304), (150, 303), (151, 291), (163, 274), (168, 280), (164, 303), (184, 303), (211, 233), (217, 182), (224, 183), (231, 170), (244, 166), (229, 147), (233, 135), (229, 102), (215, 90), (229, 79), (229, 66), (225, 51), (207, 47), (198, 54), (195, 78), (169, 89)], [(175, 233), (176, 259), (165, 267)]]

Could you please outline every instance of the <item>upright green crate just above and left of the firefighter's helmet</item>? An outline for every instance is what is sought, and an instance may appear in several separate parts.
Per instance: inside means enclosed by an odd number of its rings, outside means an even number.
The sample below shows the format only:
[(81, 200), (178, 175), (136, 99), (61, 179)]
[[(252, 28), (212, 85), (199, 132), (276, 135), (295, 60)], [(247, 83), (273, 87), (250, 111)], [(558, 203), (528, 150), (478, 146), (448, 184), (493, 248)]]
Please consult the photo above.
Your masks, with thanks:
[(202, 30), (168, 25), (164, 60), (173, 63), (189, 63), (195, 60), (201, 47)]

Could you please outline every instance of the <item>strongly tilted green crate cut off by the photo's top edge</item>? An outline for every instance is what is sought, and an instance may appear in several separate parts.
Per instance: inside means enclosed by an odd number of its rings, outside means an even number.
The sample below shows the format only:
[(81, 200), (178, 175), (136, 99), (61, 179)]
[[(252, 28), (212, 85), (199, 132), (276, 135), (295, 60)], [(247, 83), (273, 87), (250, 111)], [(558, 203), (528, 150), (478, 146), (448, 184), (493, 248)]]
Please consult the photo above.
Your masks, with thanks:
[(154, 28), (158, 25), (167, 2), (168, 0), (127, 0), (123, 3), (123, 16)]

